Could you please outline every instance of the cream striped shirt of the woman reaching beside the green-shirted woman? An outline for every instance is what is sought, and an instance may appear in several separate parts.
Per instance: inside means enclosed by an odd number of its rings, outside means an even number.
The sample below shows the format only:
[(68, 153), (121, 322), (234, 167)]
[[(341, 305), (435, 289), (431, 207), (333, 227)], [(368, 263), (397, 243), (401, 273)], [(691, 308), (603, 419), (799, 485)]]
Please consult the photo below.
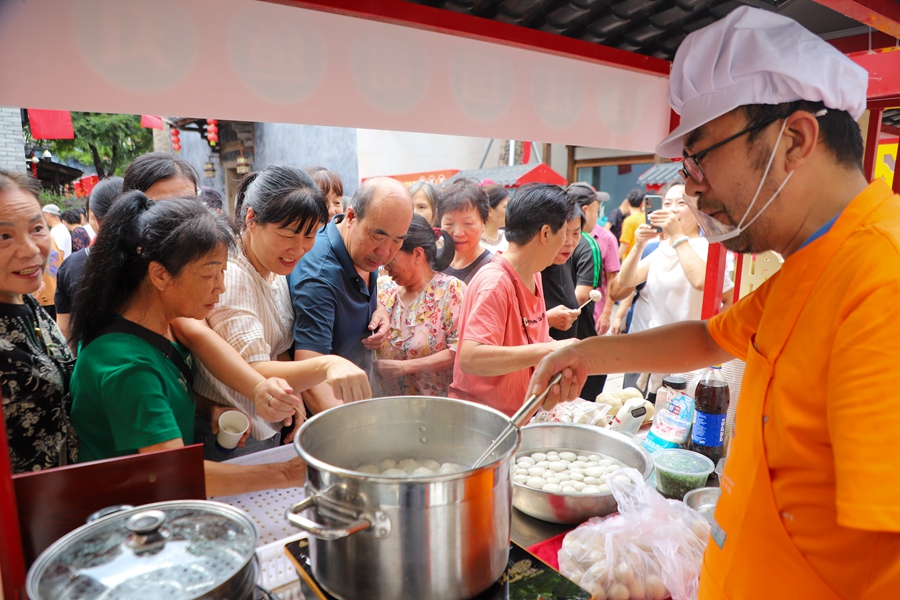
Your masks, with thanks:
[[(287, 279), (275, 275), (266, 281), (240, 248), (229, 252), (225, 293), (206, 320), (248, 363), (277, 360), (293, 343), (294, 308)], [(251, 415), (253, 439), (267, 440), (281, 431), (281, 422), (259, 417), (253, 400), (213, 377), (199, 361), (197, 375), (198, 394)]]

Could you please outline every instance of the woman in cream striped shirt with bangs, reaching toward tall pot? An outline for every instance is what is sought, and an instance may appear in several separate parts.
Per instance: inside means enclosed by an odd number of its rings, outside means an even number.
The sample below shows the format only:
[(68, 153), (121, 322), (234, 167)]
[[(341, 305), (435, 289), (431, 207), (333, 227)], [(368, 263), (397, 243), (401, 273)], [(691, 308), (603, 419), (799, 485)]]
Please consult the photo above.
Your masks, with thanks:
[[(285, 276), (312, 248), (328, 216), (316, 183), (301, 169), (273, 165), (244, 178), (236, 205), (240, 237), (228, 254), (225, 292), (206, 318), (209, 326), (259, 373), (283, 378), (294, 390), (328, 382), (344, 402), (370, 398), (366, 373), (352, 362), (334, 355), (295, 362), (287, 354), (293, 344), (294, 310)], [(253, 401), (204, 367), (198, 374), (197, 393), (251, 416), (252, 439), (231, 452), (222, 451), (208, 424), (198, 419), (207, 459), (224, 460), (279, 444), (281, 422), (259, 416)]]

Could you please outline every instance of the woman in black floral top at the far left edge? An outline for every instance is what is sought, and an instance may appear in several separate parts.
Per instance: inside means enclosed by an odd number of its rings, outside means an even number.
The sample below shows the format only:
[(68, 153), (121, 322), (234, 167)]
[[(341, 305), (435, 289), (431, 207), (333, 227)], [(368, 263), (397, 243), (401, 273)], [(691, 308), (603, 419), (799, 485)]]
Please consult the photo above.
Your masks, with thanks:
[(37, 180), (0, 170), (0, 395), (13, 473), (74, 463), (74, 357), (32, 294), (50, 255)]

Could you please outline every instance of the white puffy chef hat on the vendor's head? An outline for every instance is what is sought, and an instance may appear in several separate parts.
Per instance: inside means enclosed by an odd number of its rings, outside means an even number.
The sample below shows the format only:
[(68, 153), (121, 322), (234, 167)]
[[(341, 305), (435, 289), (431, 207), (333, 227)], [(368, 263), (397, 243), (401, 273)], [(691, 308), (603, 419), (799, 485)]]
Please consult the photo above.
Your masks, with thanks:
[(680, 125), (656, 147), (682, 155), (682, 137), (747, 104), (823, 102), (859, 119), (869, 75), (796, 21), (741, 6), (687, 36), (672, 64), (669, 104)]

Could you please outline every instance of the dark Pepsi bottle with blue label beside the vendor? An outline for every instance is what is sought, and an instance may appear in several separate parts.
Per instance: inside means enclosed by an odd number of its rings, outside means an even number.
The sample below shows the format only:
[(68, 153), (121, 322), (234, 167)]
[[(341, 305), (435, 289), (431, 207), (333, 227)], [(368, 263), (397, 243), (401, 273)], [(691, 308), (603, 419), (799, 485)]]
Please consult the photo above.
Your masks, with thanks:
[(694, 396), (694, 424), (688, 449), (716, 464), (725, 455), (725, 418), (730, 400), (722, 365), (712, 366), (703, 374)]

